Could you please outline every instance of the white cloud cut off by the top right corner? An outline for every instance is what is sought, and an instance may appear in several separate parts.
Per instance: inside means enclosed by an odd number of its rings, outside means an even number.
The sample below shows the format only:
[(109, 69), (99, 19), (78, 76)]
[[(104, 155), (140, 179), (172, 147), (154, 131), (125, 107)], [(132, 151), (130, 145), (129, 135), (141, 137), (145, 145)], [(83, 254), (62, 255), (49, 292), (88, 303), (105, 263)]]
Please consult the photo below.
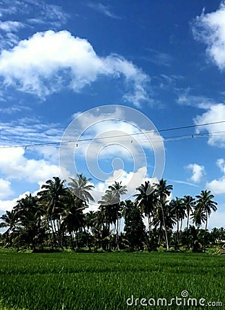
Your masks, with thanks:
[(206, 52), (220, 70), (225, 68), (225, 1), (215, 12), (197, 17), (193, 27), (195, 39), (206, 43)]

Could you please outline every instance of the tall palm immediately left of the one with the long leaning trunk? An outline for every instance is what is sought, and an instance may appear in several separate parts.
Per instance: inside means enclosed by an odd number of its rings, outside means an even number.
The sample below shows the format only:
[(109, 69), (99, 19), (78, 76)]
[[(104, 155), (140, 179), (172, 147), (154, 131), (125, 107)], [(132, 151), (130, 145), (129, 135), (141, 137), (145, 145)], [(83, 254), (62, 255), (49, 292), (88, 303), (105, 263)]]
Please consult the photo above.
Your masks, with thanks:
[(153, 209), (155, 208), (156, 196), (155, 196), (155, 187), (150, 185), (150, 181), (145, 181), (144, 185), (141, 184), (137, 187), (138, 194), (134, 196), (135, 201), (137, 201), (140, 210), (148, 218), (148, 237), (150, 237), (151, 231), (151, 216), (154, 216)]

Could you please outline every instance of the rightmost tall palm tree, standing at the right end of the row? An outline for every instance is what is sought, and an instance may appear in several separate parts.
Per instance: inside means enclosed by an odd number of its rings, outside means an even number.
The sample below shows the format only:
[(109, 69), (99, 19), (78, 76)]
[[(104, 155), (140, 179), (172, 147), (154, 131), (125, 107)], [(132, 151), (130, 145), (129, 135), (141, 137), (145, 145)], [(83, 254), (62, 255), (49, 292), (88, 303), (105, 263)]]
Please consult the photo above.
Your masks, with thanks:
[(217, 203), (213, 201), (214, 198), (213, 194), (211, 194), (211, 191), (202, 191), (200, 195), (196, 196), (197, 198), (197, 208), (201, 209), (206, 214), (206, 229), (208, 225), (208, 217), (211, 215), (212, 210), (217, 210)]

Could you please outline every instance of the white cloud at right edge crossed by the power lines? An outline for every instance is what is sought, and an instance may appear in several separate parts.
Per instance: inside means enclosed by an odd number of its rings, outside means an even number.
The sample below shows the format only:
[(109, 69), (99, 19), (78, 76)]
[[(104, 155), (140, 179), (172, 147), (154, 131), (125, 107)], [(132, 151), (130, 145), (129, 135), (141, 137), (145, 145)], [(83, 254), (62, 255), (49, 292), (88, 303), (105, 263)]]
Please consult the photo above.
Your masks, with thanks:
[[(214, 105), (206, 105), (202, 115), (198, 115), (194, 119), (195, 125), (223, 122), (225, 120), (225, 105), (218, 103)], [(225, 123), (217, 123), (212, 125), (204, 125), (196, 128), (197, 134), (200, 132), (208, 132), (208, 144), (217, 147), (225, 147)]]

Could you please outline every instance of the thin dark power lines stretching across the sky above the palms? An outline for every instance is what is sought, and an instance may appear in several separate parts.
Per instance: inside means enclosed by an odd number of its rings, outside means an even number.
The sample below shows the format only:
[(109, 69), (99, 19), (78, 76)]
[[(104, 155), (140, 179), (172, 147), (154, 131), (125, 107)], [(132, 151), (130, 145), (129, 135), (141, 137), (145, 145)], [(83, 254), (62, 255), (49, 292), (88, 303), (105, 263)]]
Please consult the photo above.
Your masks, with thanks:
[[(203, 123), (203, 124), (197, 124), (197, 125), (188, 125), (188, 126), (182, 126), (182, 127), (172, 127), (172, 128), (166, 128), (163, 130), (150, 130), (150, 131), (146, 131), (146, 132), (137, 132), (137, 133), (133, 133), (133, 134), (120, 134), (117, 136), (103, 136), (103, 137), (97, 137), (97, 138), (83, 138), (80, 139), (79, 141), (58, 141), (58, 142), (49, 142), (49, 143), (30, 143), (30, 144), (23, 144), (23, 145), (3, 145), (0, 146), (0, 149), (6, 149), (6, 148), (17, 148), (17, 147), (23, 147), (23, 148), (28, 148), (28, 147), (42, 147), (42, 146), (54, 146), (54, 145), (61, 145), (61, 144), (67, 144), (67, 143), (82, 143), (82, 142), (87, 142), (87, 141), (97, 141), (97, 140), (102, 140), (102, 139), (109, 139), (109, 138), (121, 138), (121, 137), (125, 137), (125, 136), (138, 136), (141, 134), (153, 134), (153, 133), (157, 133), (157, 132), (169, 132), (169, 131), (173, 131), (173, 130), (184, 130), (184, 129), (188, 129), (188, 128), (195, 128), (195, 127), (201, 127), (201, 126), (208, 126), (208, 125), (216, 125), (216, 124), (221, 124), (221, 123), (225, 123), (225, 121), (217, 121), (217, 122), (211, 122), (211, 123)], [(225, 132), (212, 132), (211, 136), (215, 133), (224, 133)], [(182, 138), (197, 138), (197, 137), (201, 137), (201, 138), (208, 138), (209, 134), (190, 134), (190, 135), (183, 135), (183, 136), (171, 136), (171, 137), (165, 137), (164, 141), (173, 141), (172, 139), (182, 139)], [(217, 137), (224, 137), (224, 135), (222, 136), (217, 136)], [(159, 137), (155, 137), (155, 138), (159, 138)], [(151, 138), (151, 140), (155, 139), (154, 137)], [(148, 139), (146, 138), (146, 141), (148, 141)], [(82, 143), (82, 145), (84, 145), (85, 143)], [(78, 146), (78, 144), (77, 144)]]

